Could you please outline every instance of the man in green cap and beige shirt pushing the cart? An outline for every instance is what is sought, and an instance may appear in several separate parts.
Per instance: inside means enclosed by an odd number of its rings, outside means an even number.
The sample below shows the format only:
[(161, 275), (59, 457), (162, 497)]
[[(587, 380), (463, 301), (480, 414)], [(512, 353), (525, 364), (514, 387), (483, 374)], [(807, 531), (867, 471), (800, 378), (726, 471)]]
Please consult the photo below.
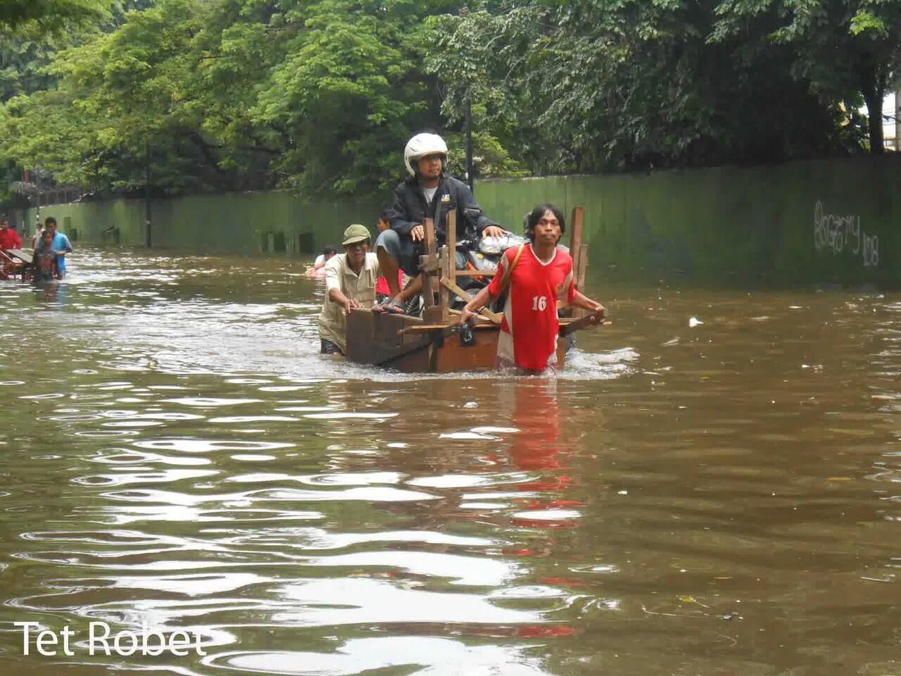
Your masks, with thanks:
[(344, 253), (325, 263), (325, 301), (319, 314), (323, 354), (343, 354), (347, 346), (347, 315), (351, 307), (372, 307), (381, 274), (372, 240), (363, 225), (351, 225), (341, 239)]

